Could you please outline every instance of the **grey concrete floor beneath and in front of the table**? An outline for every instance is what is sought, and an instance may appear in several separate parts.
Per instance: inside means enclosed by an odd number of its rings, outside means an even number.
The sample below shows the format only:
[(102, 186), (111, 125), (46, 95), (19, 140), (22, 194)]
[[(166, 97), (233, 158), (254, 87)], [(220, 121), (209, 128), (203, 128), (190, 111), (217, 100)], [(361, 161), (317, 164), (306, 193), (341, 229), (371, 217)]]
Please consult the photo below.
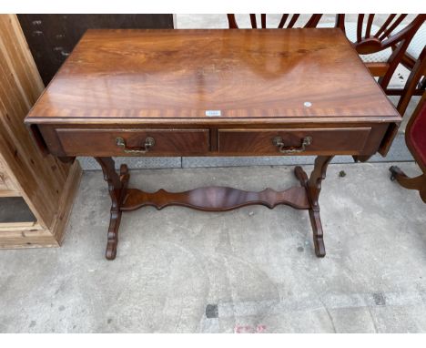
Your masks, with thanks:
[[(106, 183), (85, 172), (62, 248), (0, 251), (0, 332), (424, 333), (426, 206), (391, 182), (390, 165), (330, 165), (324, 259), (307, 211), (256, 206), (126, 213), (106, 261)], [(130, 183), (284, 189), (292, 169), (136, 170)]]

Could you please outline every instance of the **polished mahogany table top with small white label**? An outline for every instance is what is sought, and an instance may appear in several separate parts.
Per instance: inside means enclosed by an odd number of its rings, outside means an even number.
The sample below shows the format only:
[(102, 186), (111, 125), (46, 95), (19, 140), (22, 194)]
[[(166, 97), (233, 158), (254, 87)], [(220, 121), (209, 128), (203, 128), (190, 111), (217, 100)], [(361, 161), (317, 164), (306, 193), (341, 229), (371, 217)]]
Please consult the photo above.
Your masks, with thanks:
[(401, 118), (340, 29), (88, 30), (27, 122)]

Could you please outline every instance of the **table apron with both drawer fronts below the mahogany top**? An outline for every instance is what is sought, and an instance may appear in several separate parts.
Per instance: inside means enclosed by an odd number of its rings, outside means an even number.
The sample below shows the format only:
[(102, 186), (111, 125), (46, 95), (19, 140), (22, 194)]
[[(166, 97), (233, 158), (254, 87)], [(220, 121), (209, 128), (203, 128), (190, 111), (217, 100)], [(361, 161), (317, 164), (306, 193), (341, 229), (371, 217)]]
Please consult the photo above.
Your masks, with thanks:
[(59, 157), (372, 155), (389, 124), (341, 127), (90, 127), (38, 125), (33, 133)]

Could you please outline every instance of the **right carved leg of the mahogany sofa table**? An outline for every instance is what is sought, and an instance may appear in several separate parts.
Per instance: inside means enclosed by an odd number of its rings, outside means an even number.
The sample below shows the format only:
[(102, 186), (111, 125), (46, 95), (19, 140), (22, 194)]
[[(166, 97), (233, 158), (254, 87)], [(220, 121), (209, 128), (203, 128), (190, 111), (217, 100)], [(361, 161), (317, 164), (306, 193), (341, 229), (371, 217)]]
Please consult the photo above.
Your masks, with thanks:
[(294, 173), (299, 179), (300, 184), (307, 190), (309, 198), (309, 218), (310, 224), (313, 230), (313, 241), (315, 246), (315, 254), (318, 257), (324, 257), (325, 246), (323, 240), (322, 225), (320, 219), (320, 204), (318, 202), (321, 190), (321, 181), (326, 177), (326, 170), (332, 159), (332, 156), (319, 156), (315, 159), (315, 166), (310, 174), (308, 175), (301, 167), (296, 167)]

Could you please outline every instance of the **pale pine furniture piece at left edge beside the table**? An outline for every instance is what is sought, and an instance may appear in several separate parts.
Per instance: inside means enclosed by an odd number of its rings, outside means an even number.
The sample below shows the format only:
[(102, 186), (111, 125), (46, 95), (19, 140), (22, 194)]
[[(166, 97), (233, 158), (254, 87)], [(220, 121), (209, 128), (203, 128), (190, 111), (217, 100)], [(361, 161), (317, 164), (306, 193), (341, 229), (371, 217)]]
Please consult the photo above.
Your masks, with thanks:
[(60, 245), (81, 168), (45, 156), (24, 118), (44, 85), (16, 15), (0, 15), (0, 200), (22, 197), (35, 222), (0, 223), (0, 248)]

